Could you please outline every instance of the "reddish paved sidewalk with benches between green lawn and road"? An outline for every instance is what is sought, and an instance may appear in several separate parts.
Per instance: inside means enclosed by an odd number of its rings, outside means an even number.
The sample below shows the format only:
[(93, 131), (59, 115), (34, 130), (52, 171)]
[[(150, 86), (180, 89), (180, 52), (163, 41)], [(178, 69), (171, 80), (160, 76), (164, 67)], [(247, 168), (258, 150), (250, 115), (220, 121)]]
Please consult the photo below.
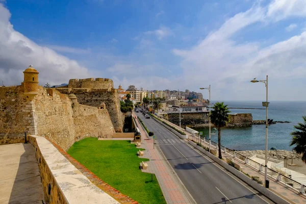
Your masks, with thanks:
[[(135, 113), (134, 113), (135, 114)], [(153, 148), (154, 140), (148, 139), (142, 125), (136, 118), (136, 123), (141, 133), (141, 148), (145, 149), (144, 158), (150, 159), (148, 168), (144, 172), (154, 173), (162, 189), (165, 200), (169, 204), (191, 204), (195, 203), (191, 195), (185, 189), (178, 177), (173, 174), (173, 169), (167, 164), (162, 157), (158, 146)]]

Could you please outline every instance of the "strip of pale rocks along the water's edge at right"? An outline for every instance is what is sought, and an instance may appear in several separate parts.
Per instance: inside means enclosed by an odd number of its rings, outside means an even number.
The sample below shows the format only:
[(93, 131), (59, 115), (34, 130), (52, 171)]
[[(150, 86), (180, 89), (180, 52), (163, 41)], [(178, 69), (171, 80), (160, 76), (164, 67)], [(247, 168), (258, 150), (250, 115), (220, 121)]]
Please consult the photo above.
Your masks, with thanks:
[[(251, 151), (237, 151), (245, 157), (252, 157), (254, 155), (265, 156), (265, 150), (251, 150)], [(296, 154), (294, 151), (287, 150), (268, 150), (268, 158), (284, 160), (284, 159), (300, 159), (301, 155)]]

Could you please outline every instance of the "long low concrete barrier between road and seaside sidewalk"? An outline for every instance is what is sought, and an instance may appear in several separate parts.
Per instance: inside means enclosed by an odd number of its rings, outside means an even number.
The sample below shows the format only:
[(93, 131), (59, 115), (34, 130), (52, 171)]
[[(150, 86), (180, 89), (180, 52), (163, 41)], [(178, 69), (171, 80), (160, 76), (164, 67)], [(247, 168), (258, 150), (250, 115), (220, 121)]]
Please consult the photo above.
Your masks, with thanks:
[[(196, 149), (199, 149), (201, 147), (199, 147), (198, 145), (196, 145), (194, 142), (192, 141), (188, 141), (189, 144), (191, 144), (193, 147), (195, 147)], [(199, 148), (198, 148), (199, 147)], [(200, 149), (199, 149), (200, 150)], [(215, 161), (216, 163), (218, 163), (219, 165), (221, 165), (223, 168), (225, 168), (226, 170), (230, 171), (231, 173), (233, 173), (235, 176), (237, 176), (239, 179), (241, 179), (243, 182), (245, 182), (246, 184), (248, 184), (249, 186), (251, 186), (252, 188), (256, 189), (258, 192), (262, 193), (263, 195), (265, 195), (266, 197), (268, 197), (269, 199), (271, 199), (273, 202), (278, 203), (278, 204), (289, 204), (290, 202), (284, 200), (282, 197), (279, 197), (278, 195), (276, 195), (275, 193), (269, 191), (267, 188), (263, 187), (262, 185), (252, 181), (248, 176), (244, 175), (241, 171), (238, 171), (237, 169), (235, 169), (234, 167), (226, 164), (225, 162), (223, 162), (222, 160), (220, 160), (219, 158), (215, 157), (214, 155), (210, 154), (208, 151), (206, 151), (205, 149), (201, 148), (200, 150), (203, 154), (205, 154), (206, 156), (208, 156), (209, 158), (211, 158), (213, 161)]]

